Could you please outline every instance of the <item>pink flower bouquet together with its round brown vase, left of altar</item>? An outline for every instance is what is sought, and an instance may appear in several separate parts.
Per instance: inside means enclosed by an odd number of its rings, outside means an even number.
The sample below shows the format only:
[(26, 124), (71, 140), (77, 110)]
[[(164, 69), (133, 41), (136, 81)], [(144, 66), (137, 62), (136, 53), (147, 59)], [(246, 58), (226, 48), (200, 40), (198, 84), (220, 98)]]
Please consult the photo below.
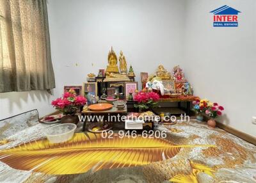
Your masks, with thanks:
[(76, 96), (76, 92), (71, 88), (68, 92), (63, 94), (56, 100), (52, 100), (51, 104), (58, 111), (63, 113), (61, 123), (75, 123), (79, 122), (79, 118), (76, 115), (77, 111), (86, 103), (86, 98), (83, 96)]

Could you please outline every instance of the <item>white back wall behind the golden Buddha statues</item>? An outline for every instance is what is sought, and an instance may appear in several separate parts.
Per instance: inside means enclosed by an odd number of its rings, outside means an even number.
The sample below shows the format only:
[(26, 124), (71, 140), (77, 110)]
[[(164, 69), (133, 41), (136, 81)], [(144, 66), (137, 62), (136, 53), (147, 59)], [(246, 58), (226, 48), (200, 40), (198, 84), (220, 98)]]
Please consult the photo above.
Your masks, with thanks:
[[(58, 90), (86, 82), (108, 65), (108, 52), (124, 52), (127, 65), (154, 72), (183, 60), (184, 1), (49, 0), (52, 60), (60, 70)], [(139, 82), (140, 83), (140, 82)]]

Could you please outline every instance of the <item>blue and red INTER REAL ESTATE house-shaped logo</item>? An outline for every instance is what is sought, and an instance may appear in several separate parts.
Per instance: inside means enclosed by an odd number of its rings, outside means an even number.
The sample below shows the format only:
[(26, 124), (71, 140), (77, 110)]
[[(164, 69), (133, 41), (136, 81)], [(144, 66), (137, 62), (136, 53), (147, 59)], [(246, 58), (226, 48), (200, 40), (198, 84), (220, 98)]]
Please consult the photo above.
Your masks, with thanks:
[(230, 6), (221, 6), (216, 10), (211, 11), (213, 13), (213, 26), (214, 27), (237, 27), (238, 26), (238, 10), (231, 8)]

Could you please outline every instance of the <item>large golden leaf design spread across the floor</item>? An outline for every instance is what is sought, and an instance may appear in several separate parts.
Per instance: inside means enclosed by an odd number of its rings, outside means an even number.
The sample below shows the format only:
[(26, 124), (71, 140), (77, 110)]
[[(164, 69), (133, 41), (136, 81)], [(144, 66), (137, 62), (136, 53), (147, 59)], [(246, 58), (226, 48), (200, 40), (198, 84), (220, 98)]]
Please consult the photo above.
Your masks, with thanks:
[(104, 139), (100, 134), (77, 133), (65, 143), (52, 144), (41, 139), (1, 150), (0, 156), (1, 161), (18, 170), (62, 175), (83, 173), (91, 168), (97, 171), (148, 164), (172, 158), (179, 150), (180, 147), (164, 139), (140, 136)]

